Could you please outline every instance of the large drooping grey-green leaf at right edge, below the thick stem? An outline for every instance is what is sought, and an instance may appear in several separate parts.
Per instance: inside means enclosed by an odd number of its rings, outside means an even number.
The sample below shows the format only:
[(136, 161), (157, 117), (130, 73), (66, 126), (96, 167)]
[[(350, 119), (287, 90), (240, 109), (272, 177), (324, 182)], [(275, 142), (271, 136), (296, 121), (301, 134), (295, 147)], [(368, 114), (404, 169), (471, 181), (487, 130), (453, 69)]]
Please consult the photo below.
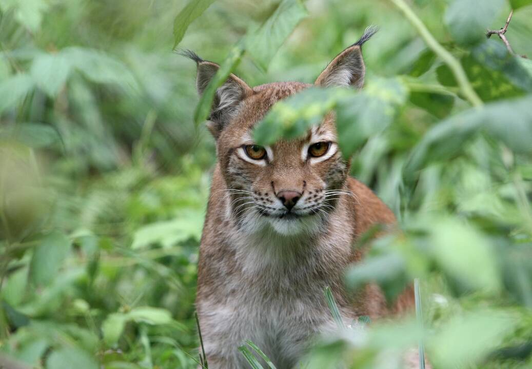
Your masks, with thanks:
[(519, 153), (532, 152), (532, 96), (486, 104), (448, 118), (431, 128), (414, 148), (405, 165), (409, 177), (429, 163), (458, 154), (473, 133), (484, 131)]

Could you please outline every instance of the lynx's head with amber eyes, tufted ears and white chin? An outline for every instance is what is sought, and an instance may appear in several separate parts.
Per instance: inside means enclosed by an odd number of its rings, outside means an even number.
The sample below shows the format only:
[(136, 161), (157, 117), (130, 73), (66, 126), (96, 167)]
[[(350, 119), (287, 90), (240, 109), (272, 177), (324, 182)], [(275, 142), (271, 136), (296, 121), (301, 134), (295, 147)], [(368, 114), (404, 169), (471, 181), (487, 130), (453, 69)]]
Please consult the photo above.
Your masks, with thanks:
[[(375, 31), (368, 28), (357, 43), (336, 56), (314, 85), (361, 88), (361, 46)], [(202, 94), (219, 65), (189, 51), (184, 54), (197, 63), (196, 86)], [(286, 236), (319, 231), (347, 192), (349, 163), (338, 150), (332, 114), (302, 139), (279, 140), (271, 146), (253, 141), (254, 125), (273, 104), (309, 86), (275, 82), (252, 88), (230, 74), (216, 91), (207, 127), (216, 140), (228, 213), (241, 229), (270, 228)]]

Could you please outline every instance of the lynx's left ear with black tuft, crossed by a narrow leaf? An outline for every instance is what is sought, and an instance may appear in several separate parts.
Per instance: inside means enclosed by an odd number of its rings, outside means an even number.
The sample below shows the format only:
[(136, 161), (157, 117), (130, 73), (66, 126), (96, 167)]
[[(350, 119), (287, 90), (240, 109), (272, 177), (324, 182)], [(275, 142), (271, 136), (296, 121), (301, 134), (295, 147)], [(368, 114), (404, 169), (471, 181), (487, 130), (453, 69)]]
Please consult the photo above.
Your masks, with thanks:
[[(186, 50), (181, 51), (181, 55), (187, 56), (197, 64), (196, 88), (198, 94), (202, 95), (203, 91), (209, 85), (214, 74), (220, 68), (220, 65), (203, 60), (194, 52)], [(211, 131), (214, 138), (220, 136), (220, 132), (229, 123), (231, 116), (235, 113), (236, 108), (243, 99), (253, 94), (253, 90), (240, 78), (230, 74), (226, 82), (216, 90), (212, 102), (211, 114), (207, 128)]]

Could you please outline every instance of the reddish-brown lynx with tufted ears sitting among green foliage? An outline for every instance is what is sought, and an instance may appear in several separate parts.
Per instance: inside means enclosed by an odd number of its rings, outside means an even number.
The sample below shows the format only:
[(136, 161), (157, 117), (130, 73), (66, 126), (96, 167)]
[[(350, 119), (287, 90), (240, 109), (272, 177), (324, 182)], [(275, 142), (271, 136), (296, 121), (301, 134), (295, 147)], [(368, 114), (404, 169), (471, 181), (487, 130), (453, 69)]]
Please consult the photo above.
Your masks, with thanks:
[[(316, 86), (361, 88), (362, 44), (336, 56)], [(202, 94), (219, 65), (193, 52)], [(253, 141), (252, 129), (278, 100), (309, 86), (274, 82), (250, 87), (230, 74), (218, 88), (207, 126), (216, 141), (215, 166), (198, 265), (196, 307), (209, 367), (248, 367), (238, 346), (252, 340), (278, 369), (296, 366), (311, 339), (334, 330), (324, 289), (329, 286), (346, 323), (404, 311), (407, 289), (388, 308), (375, 285), (349, 296), (343, 270), (360, 262), (353, 247), (377, 223), (393, 224), (392, 211), (348, 176), (350, 161), (337, 145), (335, 119), (326, 116), (306, 137), (271, 146)]]

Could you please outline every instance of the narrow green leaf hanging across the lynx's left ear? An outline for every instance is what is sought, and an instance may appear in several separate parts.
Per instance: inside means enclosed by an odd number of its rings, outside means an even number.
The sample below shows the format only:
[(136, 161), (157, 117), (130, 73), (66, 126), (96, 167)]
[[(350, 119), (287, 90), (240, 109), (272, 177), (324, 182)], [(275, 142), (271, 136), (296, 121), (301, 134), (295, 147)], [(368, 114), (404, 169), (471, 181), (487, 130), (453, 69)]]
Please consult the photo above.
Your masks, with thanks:
[(231, 49), (225, 61), (220, 65), (220, 68), (209, 82), (209, 85), (203, 91), (200, 102), (196, 106), (194, 113), (194, 122), (196, 124), (202, 123), (209, 116), (216, 90), (227, 80), (229, 74), (235, 70), (240, 63), (242, 54), (244, 54), (244, 48), (239, 43)]

